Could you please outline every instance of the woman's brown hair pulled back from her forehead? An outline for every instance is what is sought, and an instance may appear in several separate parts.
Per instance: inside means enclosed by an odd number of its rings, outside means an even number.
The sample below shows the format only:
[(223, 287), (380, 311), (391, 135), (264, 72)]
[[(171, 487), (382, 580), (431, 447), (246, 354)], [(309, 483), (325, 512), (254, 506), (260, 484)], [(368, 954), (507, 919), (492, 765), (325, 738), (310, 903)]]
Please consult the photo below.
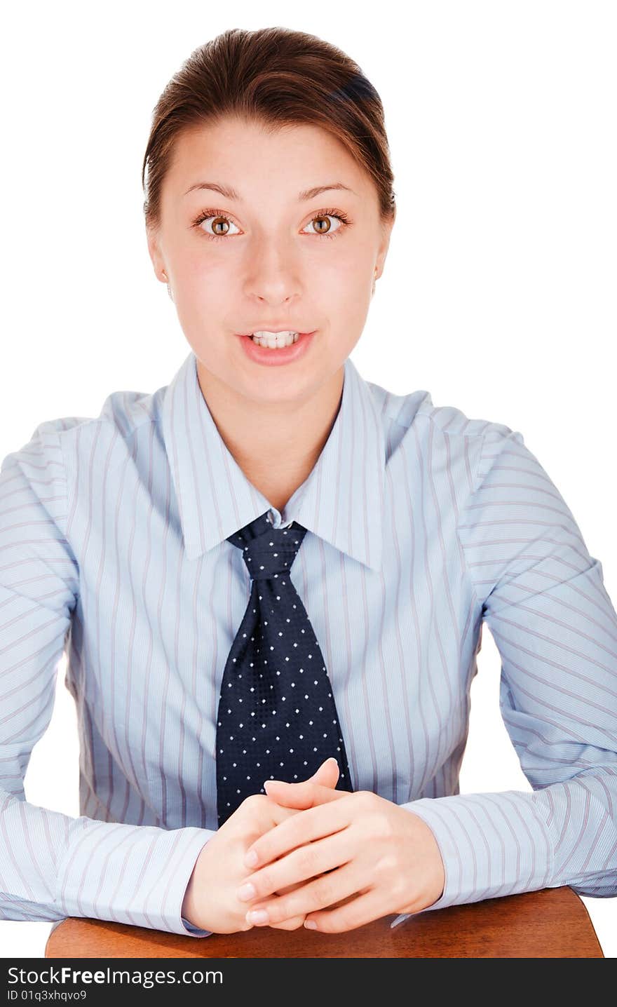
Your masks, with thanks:
[[(160, 224), (161, 185), (178, 135), (240, 115), (267, 130), (309, 124), (328, 130), (368, 172), (383, 222), (396, 214), (383, 108), (341, 49), (291, 28), (229, 28), (194, 49), (159, 98), (142, 166), (148, 228)], [(148, 168), (147, 189), (145, 172)]]

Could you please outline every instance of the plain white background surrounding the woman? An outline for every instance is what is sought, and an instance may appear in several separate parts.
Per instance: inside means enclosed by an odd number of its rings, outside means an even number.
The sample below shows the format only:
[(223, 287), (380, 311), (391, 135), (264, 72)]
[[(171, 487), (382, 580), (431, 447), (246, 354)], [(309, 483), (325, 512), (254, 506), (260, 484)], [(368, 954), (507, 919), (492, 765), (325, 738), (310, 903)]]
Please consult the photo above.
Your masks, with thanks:
[[(298, 28), (350, 54), (385, 108), (398, 219), (352, 354), (360, 374), (519, 430), (617, 602), (615, 4), (381, 2), (364, 17), (320, 0), (218, 6), (4, 13), (0, 457), (45, 419), (98, 416), (112, 391), (169, 383), (189, 346), (146, 247), (151, 111), (225, 28)], [(485, 627), (461, 793), (530, 789), (500, 720), (499, 670)], [(25, 786), (76, 816), (63, 680), (64, 659)], [(617, 900), (583, 901), (616, 957)], [(49, 928), (0, 922), (0, 956), (42, 957)]]

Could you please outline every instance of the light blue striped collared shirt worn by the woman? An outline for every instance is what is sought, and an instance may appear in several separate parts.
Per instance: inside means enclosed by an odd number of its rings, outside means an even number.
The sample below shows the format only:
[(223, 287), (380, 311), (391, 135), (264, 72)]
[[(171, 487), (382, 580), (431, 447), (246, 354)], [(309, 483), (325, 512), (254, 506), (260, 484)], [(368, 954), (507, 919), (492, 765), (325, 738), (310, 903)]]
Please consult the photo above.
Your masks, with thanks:
[[(217, 828), (219, 688), (250, 594), (226, 537), (268, 510), (308, 529), (292, 577), (353, 789), (435, 834), (446, 883), (428, 908), (617, 894), (617, 614), (521, 434), (394, 395), (348, 358), (328, 440), (280, 513), (225, 447), (195, 364), (113, 393), (96, 419), (40, 423), (2, 462), (0, 918), (209, 934), (181, 907)], [(459, 793), (483, 620), (529, 790)], [(79, 818), (23, 788), (64, 651)]]

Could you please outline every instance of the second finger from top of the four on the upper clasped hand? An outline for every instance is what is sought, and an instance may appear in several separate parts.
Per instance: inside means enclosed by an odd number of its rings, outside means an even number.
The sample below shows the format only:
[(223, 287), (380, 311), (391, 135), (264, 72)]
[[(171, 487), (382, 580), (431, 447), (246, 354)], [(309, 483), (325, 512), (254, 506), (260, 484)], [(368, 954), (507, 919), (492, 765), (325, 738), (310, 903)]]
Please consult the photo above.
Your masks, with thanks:
[(299, 846), (292, 853), (267, 864), (244, 879), (236, 893), (237, 897), (241, 901), (251, 899), (252, 903), (261, 903), (273, 894), (282, 899), (289, 891), (300, 887), (301, 881), (343, 866), (353, 859), (356, 852), (349, 842), (346, 829), (318, 842)]

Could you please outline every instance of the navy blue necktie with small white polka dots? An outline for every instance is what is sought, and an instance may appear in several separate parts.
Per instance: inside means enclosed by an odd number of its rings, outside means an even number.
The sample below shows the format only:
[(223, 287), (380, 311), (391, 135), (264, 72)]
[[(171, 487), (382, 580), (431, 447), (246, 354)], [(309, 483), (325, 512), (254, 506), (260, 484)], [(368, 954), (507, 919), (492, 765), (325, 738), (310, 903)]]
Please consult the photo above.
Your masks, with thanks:
[(218, 826), (265, 779), (300, 782), (325, 759), (336, 788), (351, 778), (325, 662), (290, 572), (306, 529), (273, 528), (269, 513), (227, 542), (243, 550), (251, 596), (227, 658), (216, 723)]

